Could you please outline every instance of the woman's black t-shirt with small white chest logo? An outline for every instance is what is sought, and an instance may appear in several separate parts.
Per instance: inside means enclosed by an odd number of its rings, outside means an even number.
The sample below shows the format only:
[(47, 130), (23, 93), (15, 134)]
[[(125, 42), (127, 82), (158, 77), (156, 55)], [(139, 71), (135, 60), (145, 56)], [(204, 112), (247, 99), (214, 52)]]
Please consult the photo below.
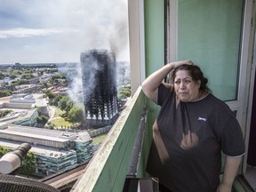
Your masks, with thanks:
[(220, 183), (221, 151), (244, 155), (244, 139), (234, 113), (209, 93), (181, 102), (163, 84), (161, 110), (153, 126), (147, 171), (173, 192), (215, 192)]

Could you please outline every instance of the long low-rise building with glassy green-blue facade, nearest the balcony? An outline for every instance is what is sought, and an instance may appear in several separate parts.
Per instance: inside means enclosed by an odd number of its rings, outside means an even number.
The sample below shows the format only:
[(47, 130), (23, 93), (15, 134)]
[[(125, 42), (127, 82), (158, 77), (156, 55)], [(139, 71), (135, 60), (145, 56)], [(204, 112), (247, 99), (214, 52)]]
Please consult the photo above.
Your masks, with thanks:
[(5, 125), (0, 129), (0, 145), (17, 148), (31, 145), (36, 156), (36, 174), (41, 176), (65, 171), (87, 163), (93, 156), (92, 138), (88, 132), (61, 132), (42, 128)]

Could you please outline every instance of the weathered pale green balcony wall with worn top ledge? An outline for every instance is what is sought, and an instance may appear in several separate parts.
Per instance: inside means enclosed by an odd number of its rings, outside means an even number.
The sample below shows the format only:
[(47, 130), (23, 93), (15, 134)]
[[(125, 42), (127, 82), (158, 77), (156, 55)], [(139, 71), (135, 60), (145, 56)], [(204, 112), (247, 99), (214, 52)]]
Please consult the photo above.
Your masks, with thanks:
[[(141, 87), (135, 92), (132, 100), (116, 120), (107, 138), (102, 142), (91, 162), (87, 165), (84, 175), (76, 181), (71, 191), (122, 191), (126, 174), (132, 157), (135, 138), (138, 132), (141, 114), (147, 100)], [(150, 116), (150, 109), (148, 110)], [(146, 118), (148, 118), (146, 117)], [(149, 123), (149, 124), (148, 124)], [(147, 177), (145, 166), (152, 140), (150, 121), (146, 121), (142, 140), (142, 150), (136, 177)]]

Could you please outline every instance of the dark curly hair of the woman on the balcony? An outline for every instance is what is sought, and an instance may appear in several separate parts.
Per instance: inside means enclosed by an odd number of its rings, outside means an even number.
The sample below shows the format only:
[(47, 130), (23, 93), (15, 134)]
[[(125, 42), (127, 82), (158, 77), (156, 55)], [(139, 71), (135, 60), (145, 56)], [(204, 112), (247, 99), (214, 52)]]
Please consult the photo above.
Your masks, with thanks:
[(188, 64), (181, 65), (178, 68), (175, 68), (173, 70), (172, 82), (174, 82), (176, 73), (179, 70), (187, 70), (189, 76), (191, 76), (194, 81), (201, 80), (201, 86), (200, 86), (199, 90), (211, 92), (211, 90), (209, 89), (209, 87), (207, 85), (208, 79), (204, 76), (204, 73), (202, 72), (201, 68), (199, 68), (196, 65), (188, 65)]

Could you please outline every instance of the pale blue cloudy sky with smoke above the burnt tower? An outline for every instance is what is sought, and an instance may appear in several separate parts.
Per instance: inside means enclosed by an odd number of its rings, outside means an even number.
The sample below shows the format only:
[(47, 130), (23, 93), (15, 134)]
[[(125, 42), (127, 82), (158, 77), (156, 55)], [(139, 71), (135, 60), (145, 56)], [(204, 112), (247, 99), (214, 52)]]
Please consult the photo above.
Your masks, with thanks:
[(108, 49), (129, 60), (127, 0), (0, 0), (0, 64), (79, 62)]

